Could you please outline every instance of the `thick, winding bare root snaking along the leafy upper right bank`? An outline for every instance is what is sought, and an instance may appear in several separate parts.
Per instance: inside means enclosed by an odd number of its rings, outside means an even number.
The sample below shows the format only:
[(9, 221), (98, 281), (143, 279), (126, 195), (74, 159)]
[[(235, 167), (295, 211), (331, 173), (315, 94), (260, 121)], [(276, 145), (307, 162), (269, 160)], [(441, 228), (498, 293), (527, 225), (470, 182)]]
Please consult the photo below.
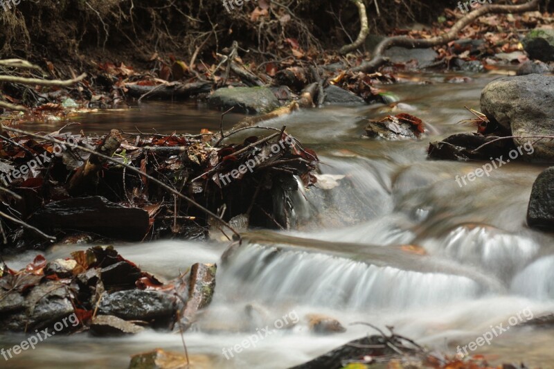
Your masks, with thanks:
[[(352, 0), (354, 1), (354, 0)], [(487, 15), (487, 14), (505, 14), (505, 13), (520, 13), (520, 12), (528, 12), (530, 10), (537, 9), (537, 6), (539, 5), (539, 0), (532, 0), (528, 3), (524, 3), (521, 5), (488, 5), (488, 6), (482, 6), (481, 8), (477, 10), (473, 10), (472, 12), (465, 15), (465, 17), (462, 17), (459, 19), (452, 28), (447, 33), (444, 33), (443, 35), (431, 37), (430, 39), (412, 39), (410, 37), (406, 36), (395, 36), (395, 37), (387, 37), (382, 42), (380, 42), (377, 45), (377, 48), (375, 48), (375, 55), (373, 55), (373, 60), (370, 62), (364, 62), (357, 66), (356, 68), (352, 68), (352, 72), (364, 72), (364, 73), (371, 73), (375, 71), (375, 60), (383, 59), (382, 54), (386, 51), (387, 48), (390, 48), (392, 46), (402, 46), (405, 48), (428, 48), (432, 46), (438, 46), (442, 44), (447, 44), (448, 42), (454, 41), (458, 38), (458, 33), (468, 24), (472, 23), (475, 19)], [(378, 64), (378, 63), (377, 63)], [(379, 66), (382, 64), (379, 64)]]

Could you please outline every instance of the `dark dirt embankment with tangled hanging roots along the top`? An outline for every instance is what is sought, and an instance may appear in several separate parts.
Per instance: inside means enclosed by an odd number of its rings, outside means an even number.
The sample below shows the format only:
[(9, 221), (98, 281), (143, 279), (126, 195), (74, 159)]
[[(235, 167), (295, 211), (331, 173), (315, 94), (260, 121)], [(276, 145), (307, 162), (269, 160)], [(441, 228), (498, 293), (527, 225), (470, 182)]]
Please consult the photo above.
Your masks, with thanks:
[[(53, 62), (87, 71), (95, 61), (149, 66), (153, 55), (211, 62), (233, 40), (253, 57), (272, 57), (287, 42), (304, 50), (336, 50), (359, 31), (356, 6), (345, 0), (289, 0), (269, 6), (250, 1), (227, 11), (221, 0), (21, 1), (0, 11), (3, 57)], [(276, 4), (276, 3), (275, 3)], [(367, 12), (371, 33), (387, 33), (413, 21), (436, 19), (449, 1), (375, 1)], [(1, 8), (0, 8), (1, 10)], [(198, 50), (198, 51), (197, 51)], [(138, 64), (138, 65), (137, 65)]]

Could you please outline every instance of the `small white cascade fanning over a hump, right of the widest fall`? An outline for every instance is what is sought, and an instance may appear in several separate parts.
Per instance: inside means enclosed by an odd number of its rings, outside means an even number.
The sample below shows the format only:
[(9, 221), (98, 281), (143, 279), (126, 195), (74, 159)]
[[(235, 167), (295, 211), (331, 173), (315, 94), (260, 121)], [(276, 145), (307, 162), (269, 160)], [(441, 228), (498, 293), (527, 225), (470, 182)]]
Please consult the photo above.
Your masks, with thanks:
[(436, 255), (490, 271), (503, 280), (523, 269), (540, 249), (526, 237), (481, 225), (459, 226), (444, 240), (430, 240), (424, 245)]

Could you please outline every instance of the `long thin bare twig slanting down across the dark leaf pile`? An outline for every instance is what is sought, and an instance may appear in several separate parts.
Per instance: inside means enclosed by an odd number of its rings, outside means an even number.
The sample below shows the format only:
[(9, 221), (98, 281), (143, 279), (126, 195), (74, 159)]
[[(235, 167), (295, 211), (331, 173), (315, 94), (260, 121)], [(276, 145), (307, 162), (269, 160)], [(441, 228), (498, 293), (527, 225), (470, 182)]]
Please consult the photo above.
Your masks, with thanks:
[[(23, 129), (6, 127), (6, 126), (2, 126), (2, 125), (0, 125), (0, 127), (2, 127), (3, 129), (6, 129), (8, 131), (11, 131), (11, 132), (17, 132), (19, 134), (26, 134), (26, 135), (31, 136), (31, 137), (42, 138), (43, 140), (50, 141), (50, 142), (53, 142), (53, 143), (64, 144), (63, 141), (57, 140), (56, 138), (48, 137), (48, 136), (42, 136), (40, 134), (33, 134), (31, 132), (26, 132)], [(146, 177), (146, 178), (150, 179), (150, 181), (156, 183), (157, 185), (159, 185), (163, 188), (166, 188), (166, 190), (171, 192), (173, 195), (177, 195), (177, 197), (181, 197), (181, 199), (184, 199), (185, 201), (187, 201), (188, 204), (195, 206), (196, 208), (198, 208), (199, 210), (202, 210), (204, 213), (206, 213), (208, 215), (211, 215), (212, 217), (217, 219), (219, 222), (221, 222), (221, 224), (223, 224), (224, 226), (229, 228), (229, 230), (231, 230), (231, 232), (233, 232), (237, 237), (239, 237), (239, 240), (242, 240), (242, 237), (240, 237), (240, 234), (237, 231), (235, 231), (235, 229), (233, 227), (231, 227), (227, 222), (225, 222), (223, 219), (221, 219), (220, 217), (215, 215), (211, 210), (208, 210), (207, 208), (204, 208), (204, 206), (198, 204), (193, 199), (190, 199), (190, 197), (186, 197), (181, 192), (179, 192), (179, 191), (171, 188), (170, 186), (166, 185), (166, 183), (163, 183), (159, 179), (156, 179), (156, 178), (150, 176), (150, 174), (146, 174), (145, 172), (142, 172), (140, 169), (134, 168), (131, 165), (128, 165), (128, 164), (125, 164), (125, 163), (121, 163), (120, 161), (117, 161), (116, 159), (111, 158), (110, 156), (107, 156), (107, 155), (101, 154), (100, 152), (96, 152), (94, 150), (91, 150), (88, 147), (79, 146), (76, 149), (77, 150), (82, 150), (84, 152), (88, 152), (89, 154), (94, 154), (94, 155), (96, 155), (96, 156), (98, 156), (102, 159), (105, 159), (107, 161), (111, 161), (112, 163), (116, 163), (117, 165), (123, 166), (123, 167), (127, 168), (128, 170), (131, 170), (132, 172), (135, 172), (135, 173), (139, 174), (140, 176), (143, 176), (143, 177)]]

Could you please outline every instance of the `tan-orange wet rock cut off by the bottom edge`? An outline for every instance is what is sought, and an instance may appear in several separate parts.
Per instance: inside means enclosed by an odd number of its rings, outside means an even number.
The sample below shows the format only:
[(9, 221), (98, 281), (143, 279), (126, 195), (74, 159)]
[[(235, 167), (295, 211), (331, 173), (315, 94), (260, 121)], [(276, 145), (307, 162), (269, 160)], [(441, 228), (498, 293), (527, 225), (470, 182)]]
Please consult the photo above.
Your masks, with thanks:
[(211, 369), (217, 368), (213, 361), (205, 355), (188, 355), (156, 349), (131, 358), (129, 369)]

